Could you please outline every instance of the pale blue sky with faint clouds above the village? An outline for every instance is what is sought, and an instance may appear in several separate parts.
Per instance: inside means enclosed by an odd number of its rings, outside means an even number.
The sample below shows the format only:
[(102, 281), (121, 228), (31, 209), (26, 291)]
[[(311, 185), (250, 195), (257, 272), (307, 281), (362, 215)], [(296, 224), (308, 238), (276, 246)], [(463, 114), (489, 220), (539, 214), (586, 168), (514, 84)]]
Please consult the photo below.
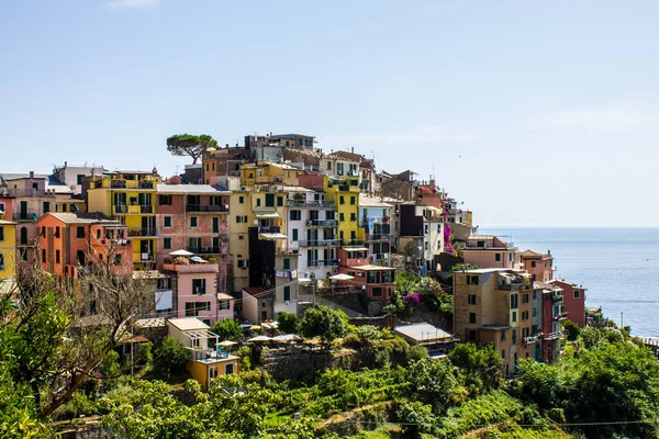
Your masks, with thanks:
[(659, 2), (0, 0), (0, 171), (316, 136), (485, 226), (659, 226)]

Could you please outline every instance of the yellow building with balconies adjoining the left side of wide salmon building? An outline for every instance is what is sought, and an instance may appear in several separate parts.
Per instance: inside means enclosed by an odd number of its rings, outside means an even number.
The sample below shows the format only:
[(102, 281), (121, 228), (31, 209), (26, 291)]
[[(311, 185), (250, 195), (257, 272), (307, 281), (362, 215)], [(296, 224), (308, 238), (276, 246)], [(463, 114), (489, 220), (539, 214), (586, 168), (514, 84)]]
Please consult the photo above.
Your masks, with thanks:
[(157, 171), (115, 171), (92, 177), (87, 190), (89, 212), (115, 217), (129, 228), (133, 268), (149, 270), (156, 262)]

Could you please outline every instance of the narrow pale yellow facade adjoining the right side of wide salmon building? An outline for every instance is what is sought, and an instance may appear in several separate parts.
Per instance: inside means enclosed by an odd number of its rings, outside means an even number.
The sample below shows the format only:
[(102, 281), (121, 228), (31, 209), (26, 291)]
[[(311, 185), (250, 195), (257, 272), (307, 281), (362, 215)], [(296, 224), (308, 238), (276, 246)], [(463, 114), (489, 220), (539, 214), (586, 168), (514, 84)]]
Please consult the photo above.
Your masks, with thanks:
[(247, 233), (248, 228), (254, 225), (252, 191), (232, 192), (228, 212), (228, 251), (233, 260), (233, 291), (238, 292), (249, 286), (249, 237)]

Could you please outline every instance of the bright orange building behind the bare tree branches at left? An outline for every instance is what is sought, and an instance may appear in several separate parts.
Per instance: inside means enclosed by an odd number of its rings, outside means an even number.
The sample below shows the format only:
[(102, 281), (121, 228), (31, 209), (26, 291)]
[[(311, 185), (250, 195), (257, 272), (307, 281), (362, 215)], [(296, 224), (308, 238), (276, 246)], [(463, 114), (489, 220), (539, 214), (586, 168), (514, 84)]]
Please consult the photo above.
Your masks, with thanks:
[(76, 277), (81, 267), (108, 261), (118, 273), (133, 271), (126, 226), (101, 214), (49, 212), (36, 221), (44, 270)]

